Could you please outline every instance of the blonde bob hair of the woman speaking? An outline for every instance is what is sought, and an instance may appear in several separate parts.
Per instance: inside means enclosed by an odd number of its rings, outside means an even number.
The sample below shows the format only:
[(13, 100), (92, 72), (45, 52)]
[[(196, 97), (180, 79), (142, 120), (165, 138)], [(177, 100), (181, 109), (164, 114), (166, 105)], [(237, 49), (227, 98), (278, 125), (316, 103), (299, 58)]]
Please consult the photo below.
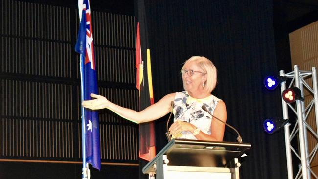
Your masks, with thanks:
[[(214, 90), (216, 86), (216, 81), (217, 81), (217, 70), (214, 64), (206, 57), (193, 56), (184, 62), (181, 71), (183, 70), (185, 65), (190, 62), (195, 62), (197, 66), (200, 67), (203, 70), (203, 72), (206, 74), (207, 78), (206, 78), (206, 81), (204, 82), (204, 90), (208, 93), (211, 93)], [(184, 88), (184, 84), (183, 84), (183, 88)]]

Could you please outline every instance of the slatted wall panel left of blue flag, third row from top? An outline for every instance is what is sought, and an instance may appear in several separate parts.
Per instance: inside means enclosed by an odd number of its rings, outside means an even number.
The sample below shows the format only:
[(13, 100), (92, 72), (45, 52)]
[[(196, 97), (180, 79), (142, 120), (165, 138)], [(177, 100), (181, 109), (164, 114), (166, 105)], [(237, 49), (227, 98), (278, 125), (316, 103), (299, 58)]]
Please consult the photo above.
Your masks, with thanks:
[(1, 115), (71, 120), (72, 91), (66, 84), (0, 79)]

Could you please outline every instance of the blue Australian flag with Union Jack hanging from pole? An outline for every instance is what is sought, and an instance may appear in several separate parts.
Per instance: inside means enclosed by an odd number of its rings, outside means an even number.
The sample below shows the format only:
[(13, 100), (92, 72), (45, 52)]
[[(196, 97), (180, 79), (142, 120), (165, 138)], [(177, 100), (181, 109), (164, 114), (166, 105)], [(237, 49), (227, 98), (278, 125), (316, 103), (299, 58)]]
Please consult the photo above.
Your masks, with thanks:
[[(98, 94), (93, 34), (91, 24), (91, 8), (89, 0), (79, 0), (79, 7), (82, 4), (81, 23), (78, 31), (78, 39), (75, 51), (81, 54), (81, 80), (82, 100), (90, 100), (91, 93)], [(98, 112), (89, 109), (82, 110), (83, 122), (85, 122), (86, 162), (100, 170), (100, 134)], [(84, 149), (83, 149), (84, 151)]]

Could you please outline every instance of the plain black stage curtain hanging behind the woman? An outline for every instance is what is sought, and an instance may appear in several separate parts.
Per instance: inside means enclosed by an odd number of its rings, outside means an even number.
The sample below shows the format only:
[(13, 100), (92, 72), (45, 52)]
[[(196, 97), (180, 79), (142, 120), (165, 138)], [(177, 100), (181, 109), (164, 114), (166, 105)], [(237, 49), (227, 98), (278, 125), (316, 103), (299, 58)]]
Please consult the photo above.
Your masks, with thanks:
[[(205, 56), (218, 69), (213, 94), (227, 105), (227, 122), (252, 150), (241, 160), (242, 179), (287, 178), (284, 134), (263, 132), (265, 117), (280, 116), (279, 89), (262, 87), (267, 74), (278, 74), (272, 0), (145, 1), (155, 101), (182, 91), (180, 69), (191, 56)], [(156, 122), (157, 152), (167, 143), (165, 122)], [(236, 141), (226, 130), (225, 141)]]

